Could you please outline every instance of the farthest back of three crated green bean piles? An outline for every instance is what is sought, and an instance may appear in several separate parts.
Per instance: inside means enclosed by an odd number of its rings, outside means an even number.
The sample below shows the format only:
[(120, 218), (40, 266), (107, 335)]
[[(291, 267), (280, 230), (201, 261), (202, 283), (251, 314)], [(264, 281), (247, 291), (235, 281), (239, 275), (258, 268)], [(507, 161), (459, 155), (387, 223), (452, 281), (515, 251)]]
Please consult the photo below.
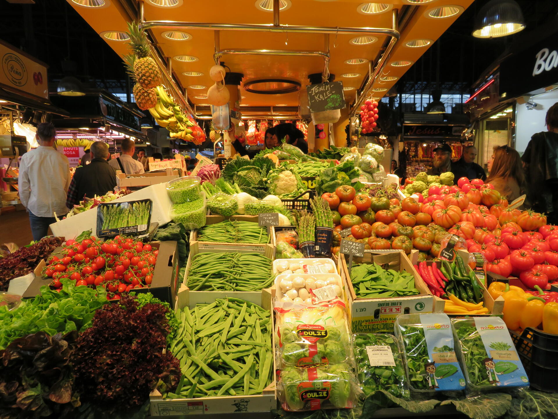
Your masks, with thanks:
[(267, 227), (259, 227), (251, 221), (223, 221), (201, 227), (198, 231), (199, 241), (222, 243), (266, 244), (270, 242)]

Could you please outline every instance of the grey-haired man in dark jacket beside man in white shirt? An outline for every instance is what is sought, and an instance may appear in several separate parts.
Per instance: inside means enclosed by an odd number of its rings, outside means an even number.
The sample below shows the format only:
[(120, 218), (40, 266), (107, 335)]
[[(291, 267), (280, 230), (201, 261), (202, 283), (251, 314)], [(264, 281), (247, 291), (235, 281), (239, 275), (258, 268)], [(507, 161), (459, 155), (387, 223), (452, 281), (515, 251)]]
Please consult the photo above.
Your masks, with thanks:
[(108, 145), (95, 141), (91, 146), (91, 162), (75, 170), (68, 189), (66, 207), (73, 208), (84, 197), (93, 198), (112, 192), (116, 187), (116, 172), (108, 164)]

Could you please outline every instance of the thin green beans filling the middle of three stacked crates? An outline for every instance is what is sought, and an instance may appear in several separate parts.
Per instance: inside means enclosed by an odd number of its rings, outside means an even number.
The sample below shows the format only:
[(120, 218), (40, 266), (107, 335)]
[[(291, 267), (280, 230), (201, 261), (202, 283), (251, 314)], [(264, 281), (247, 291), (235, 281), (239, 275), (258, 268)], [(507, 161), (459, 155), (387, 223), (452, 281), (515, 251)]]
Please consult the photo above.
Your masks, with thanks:
[(256, 253), (199, 253), (188, 271), (190, 291), (259, 291), (275, 279), (272, 260)]

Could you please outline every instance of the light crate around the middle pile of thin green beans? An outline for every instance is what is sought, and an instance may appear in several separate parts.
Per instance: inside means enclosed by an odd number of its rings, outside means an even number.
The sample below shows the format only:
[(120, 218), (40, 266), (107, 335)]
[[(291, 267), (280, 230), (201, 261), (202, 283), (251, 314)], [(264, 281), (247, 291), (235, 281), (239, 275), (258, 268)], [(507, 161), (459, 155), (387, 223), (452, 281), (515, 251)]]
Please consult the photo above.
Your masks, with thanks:
[[(213, 302), (216, 298), (225, 298), (227, 296), (242, 298), (251, 302), (260, 301), (260, 296), (262, 291), (190, 291), (187, 286), (188, 273), (190, 272), (190, 266), (195, 255), (198, 253), (259, 253), (273, 259), (275, 254), (275, 249), (271, 245), (265, 245), (261, 250), (253, 249), (204, 249), (200, 248), (199, 241), (190, 242), (190, 254), (188, 255), (188, 261), (186, 263), (186, 271), (184, 273), (184, 279), (182, 280), (182, 285), (180, 286), (177, 298), (179, 307), (190, 306), (192, 304), (198, 304), (203, 302)], [(271, 285), (270, 285), (271, 287)]]

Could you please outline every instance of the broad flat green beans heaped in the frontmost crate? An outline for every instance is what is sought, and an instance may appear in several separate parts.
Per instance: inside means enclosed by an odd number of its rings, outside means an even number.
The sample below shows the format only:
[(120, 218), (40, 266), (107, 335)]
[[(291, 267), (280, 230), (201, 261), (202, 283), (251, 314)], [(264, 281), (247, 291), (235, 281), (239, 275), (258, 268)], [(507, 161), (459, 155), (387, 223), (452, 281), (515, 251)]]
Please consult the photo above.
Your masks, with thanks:
[(176, 310), (181, 326), (171, 344), (182, 373), (167, 398), (261, 394), (272, 379), (271, 314), (238, 298)]

